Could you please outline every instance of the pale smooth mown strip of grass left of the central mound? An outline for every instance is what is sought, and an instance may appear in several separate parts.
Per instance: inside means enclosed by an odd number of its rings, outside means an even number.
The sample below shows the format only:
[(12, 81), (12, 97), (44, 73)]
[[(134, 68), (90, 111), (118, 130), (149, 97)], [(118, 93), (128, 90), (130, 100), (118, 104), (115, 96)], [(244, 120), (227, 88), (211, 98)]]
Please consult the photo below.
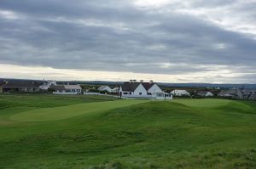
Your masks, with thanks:
[(96, 102), (87, 104), (74, 104), (56, 108), (44, 108), (30, 110), (10, 116), (12, 121), (58, 121), (78, 115), (90, 115), (92, 113), (108, 111), (133, 104), (148, 102), (148, 100), (116, 100), (106, 102)]

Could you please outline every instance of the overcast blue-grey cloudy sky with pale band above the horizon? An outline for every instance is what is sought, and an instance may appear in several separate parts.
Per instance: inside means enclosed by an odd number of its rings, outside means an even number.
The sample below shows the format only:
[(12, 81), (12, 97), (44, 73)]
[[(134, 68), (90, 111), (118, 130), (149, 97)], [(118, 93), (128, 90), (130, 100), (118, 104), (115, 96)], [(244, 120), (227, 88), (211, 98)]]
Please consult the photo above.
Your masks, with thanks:
[(256, 0), (1, 0), (0, 77), (256, 83)]

